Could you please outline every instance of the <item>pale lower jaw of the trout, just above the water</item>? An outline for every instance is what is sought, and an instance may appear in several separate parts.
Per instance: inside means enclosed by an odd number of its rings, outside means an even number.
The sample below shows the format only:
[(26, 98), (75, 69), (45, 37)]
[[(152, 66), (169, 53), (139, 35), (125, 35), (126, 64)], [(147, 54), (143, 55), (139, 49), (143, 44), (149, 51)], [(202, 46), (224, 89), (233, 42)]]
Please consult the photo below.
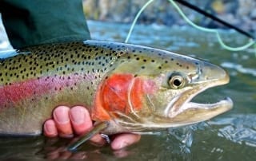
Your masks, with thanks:
[[(199, 92), (197, 92), (197, 94), (198, 93)], [(176, 100), (175, 103), (170, 102), (170, 104), (168, 104), (170, 107), (166, 108), (166, 116), (155, 118), (152, 128), (154, 126), (158, 128), (177, 128), (197, 124), (202, 121), (210, 120), (233, 108), (233, 101), (230, 97), (226, 97), (212, 104), (191, 102), (190, 100), (197, 94), (190, 96), (190, 98), (182, 104), (179, 104), (178, 100)], [(180, 97), (180, 100), (183, 100), (182, 97)]]

